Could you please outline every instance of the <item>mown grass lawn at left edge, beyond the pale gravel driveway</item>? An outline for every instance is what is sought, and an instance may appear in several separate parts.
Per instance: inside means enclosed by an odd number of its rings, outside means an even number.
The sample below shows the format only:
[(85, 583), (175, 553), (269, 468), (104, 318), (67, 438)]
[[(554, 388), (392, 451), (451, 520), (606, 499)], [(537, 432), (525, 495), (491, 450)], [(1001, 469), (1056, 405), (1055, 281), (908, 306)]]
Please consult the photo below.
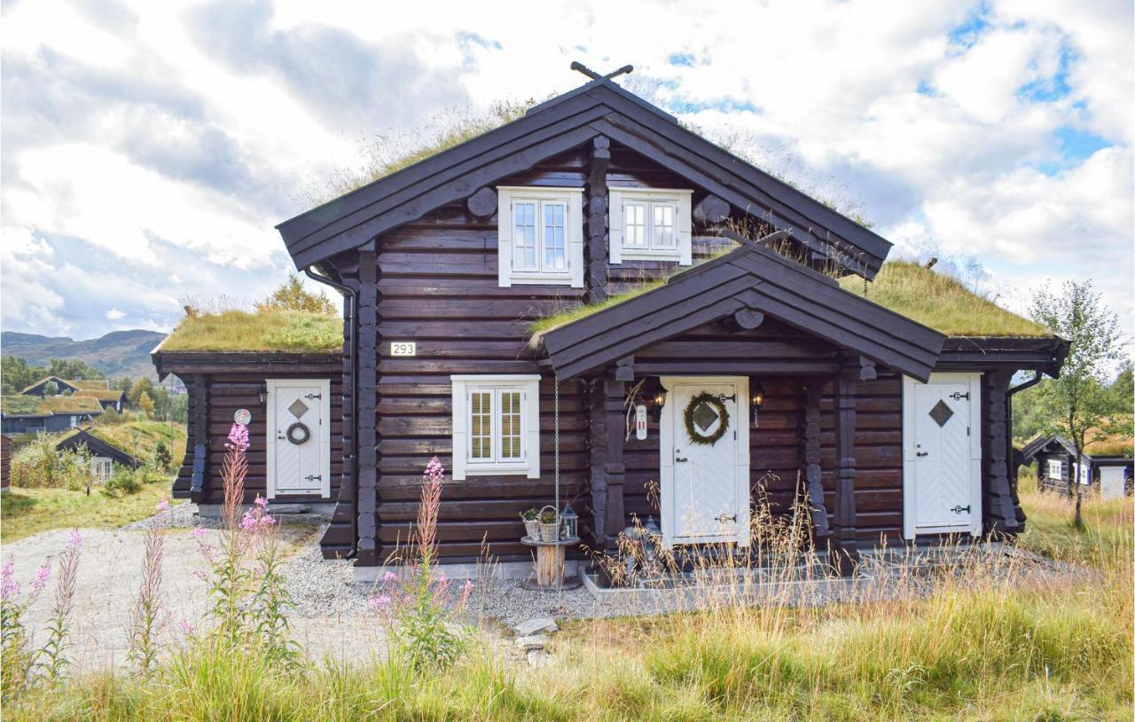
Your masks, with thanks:
[(120, 498), (109, 498), (98, 489), (87, 496), (67, 489), (12, 487), (0, 498), (0, 536), (8, 543), (50, 529), (114, 529), (150, 517), (168, 495), (168, 481), (145, 484), (136, 494)]

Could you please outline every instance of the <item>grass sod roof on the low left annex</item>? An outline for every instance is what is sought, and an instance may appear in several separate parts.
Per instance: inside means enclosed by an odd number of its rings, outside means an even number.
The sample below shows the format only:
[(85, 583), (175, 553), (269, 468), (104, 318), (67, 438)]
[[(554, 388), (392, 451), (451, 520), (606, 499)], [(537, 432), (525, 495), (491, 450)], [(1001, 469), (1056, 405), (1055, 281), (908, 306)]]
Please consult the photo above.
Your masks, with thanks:
[(305, 311), (225, 311), (185, 318), (159, 351), (333, 353), (343, 347), (343, 319)]

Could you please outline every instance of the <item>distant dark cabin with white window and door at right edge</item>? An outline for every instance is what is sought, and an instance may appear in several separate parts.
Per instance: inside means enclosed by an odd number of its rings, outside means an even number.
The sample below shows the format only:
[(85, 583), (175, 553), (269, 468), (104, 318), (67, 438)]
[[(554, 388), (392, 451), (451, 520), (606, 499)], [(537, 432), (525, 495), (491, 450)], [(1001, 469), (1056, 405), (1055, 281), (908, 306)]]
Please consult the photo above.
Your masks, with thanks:
[(1092, 453), (1092, 445), (1087, 447), (1077, 463), (1076, 446), (1058, 434), (1050, 434), (1033, 439), (1022, 450), (1022, 463), (1036, 461), (1036, 486), (1041, 490), (1067, 494), (1069, 481), (1075, 478), (1104, 498), (1132, 494), (1135, 460), (1129, 446), (1126, 454)]

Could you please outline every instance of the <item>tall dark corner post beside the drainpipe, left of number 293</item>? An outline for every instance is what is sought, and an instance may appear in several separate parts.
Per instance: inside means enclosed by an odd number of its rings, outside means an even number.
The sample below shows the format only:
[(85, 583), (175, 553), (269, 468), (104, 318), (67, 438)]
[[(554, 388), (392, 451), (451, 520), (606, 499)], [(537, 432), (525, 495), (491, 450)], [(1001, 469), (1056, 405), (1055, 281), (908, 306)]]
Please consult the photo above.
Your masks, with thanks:
[(379, 563), (378, 543), (378, 257), (363, 246), (359, 251), (359, 539), (355, 563)]

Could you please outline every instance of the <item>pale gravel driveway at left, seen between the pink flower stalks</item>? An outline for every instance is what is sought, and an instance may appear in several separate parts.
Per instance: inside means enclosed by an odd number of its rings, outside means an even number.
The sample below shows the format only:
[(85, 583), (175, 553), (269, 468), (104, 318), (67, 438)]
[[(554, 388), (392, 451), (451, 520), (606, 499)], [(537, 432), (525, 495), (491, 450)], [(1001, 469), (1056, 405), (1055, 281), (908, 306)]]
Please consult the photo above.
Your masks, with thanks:
[[(65, 548), (69, 530), (37, 534), (12, 544), (5, 544), (0, 556), (15, 564), (16, 581), (26, 596), (35, 571), (47, 560), (56, 562)], [(75, 612), (70, 624), (70, 657), (74, 670), (93, 671), (127, 664), (128, 629), (134, 599), (142, 582), (142, 555), (145, 531), (140, 529), (85, 529), (83, 553), (76, 582)], [(218, 534), (207, 530), (205, 540)], [(296, 549), (296, 556), (311, 554), (318, 544), (314, 528), (285, 527), (283, 538)], [(318, 547), (317, 547), (318, 548)], [(304, 560), (296, 559), (297, 563)], [(205, 569), (197, 548), (197, 540), (186, 528), (166, 531), (162, 560), (162, 599), (160, 640), (163, 645), (185, 643), (183, 622), (194, 628), (202, 623), (209, 597), (201, 574)], [(330, 570), (325, 570), (326, 572)], [(347, 572), (350, 573), (350, 572)], [(26, 622), (33, 630), (33, 645), (41, 645), (47, 636), (44, 624), (51, 613), (58, 569), (52, 568), (47, 589), (28, 610)], [(326, 579), (325, 579), (326, 582)], [(382, 649), (381, 629), (364, 604), (364, 591), (353, 596), (359, 604), (321, 608), (306, 604), (289, 616), (293, 636), (311, 658), (325, 656), (340, 658), (369, 657)]]

